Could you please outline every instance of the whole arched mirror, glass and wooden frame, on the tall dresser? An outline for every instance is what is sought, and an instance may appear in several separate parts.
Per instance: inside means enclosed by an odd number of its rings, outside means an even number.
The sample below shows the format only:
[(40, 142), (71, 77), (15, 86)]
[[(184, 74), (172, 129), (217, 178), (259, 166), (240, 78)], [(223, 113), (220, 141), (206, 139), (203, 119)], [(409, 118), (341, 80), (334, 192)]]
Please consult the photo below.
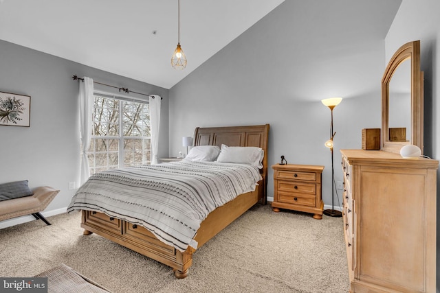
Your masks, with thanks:
[(423, 72), (420, 41), (401, 46), (382, 78), (382, 150), (417, 145), (423, 154)]

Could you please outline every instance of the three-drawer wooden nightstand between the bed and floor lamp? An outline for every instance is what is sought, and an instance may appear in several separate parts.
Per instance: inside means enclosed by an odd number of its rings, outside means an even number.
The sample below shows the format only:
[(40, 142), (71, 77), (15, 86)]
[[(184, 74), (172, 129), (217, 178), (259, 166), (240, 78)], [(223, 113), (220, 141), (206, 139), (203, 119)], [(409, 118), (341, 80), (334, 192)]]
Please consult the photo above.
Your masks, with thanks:
[(273, 211), (291, 209), (314, 213), (315, 219), (322, 219), (321, 178), (324, 166), (276, 164), (274, 169)]

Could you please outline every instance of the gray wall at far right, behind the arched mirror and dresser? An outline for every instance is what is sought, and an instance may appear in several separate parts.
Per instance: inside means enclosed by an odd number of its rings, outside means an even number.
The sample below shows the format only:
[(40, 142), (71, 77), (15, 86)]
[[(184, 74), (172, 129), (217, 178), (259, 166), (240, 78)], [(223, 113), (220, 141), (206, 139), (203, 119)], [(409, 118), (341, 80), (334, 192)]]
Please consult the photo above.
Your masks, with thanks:
[[(385, 39), (386, 58), (411, 40), (420, 40), (424, 72), (424, 154), (440, 159), (440, 1), (404, 0)], [(437, 172), (437, 292), (440, 292), (440, 172)]]

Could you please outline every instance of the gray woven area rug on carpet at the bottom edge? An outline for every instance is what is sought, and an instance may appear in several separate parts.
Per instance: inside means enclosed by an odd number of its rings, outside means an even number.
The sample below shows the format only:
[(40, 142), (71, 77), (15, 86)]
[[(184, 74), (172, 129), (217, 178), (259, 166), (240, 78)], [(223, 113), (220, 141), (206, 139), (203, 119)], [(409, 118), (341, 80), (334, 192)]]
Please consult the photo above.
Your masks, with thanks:
[(48, 293), (107, 293), (98, 283), (69, 268), (64, 263), (34, 277), (47, 277)]

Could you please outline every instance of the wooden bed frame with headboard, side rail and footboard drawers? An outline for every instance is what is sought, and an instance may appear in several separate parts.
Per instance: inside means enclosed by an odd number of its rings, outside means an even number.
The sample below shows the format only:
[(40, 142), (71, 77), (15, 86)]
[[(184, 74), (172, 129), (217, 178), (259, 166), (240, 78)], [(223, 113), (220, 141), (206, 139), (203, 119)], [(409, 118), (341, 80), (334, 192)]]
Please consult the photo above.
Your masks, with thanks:
[[(236, 218), (248, 211), (259, 200), (266, 204), (268, 134), (269, 124), (195, 129), (195, 145), (221, 146), (223, 143), (228, 146), (256, 146), (262, 148), (265, 154), (263, 169), (261, 169), (263, 180), (259, 182), (255, 191), (237, 196), (234, 200), (212, 211), (201, 222), (201, 226), (194, 237), (198, 242), (198, 247), (201, 247), (223, 228), (234, 222)], [(84, 235), (96, 233), (170, 266), (175, 272), (175, 277), (179, 279), (183, 279), (188, 275), (188, 268), (192, 264), (192, 254), (195, 253), (195, 249), (190, 246), (182, 253), (173, 246), (168, 246), (159, 241), (153, 233), (142, 226), (109, 217), (96, 211), (82, 211), (81, 227), (85, 229)]]

